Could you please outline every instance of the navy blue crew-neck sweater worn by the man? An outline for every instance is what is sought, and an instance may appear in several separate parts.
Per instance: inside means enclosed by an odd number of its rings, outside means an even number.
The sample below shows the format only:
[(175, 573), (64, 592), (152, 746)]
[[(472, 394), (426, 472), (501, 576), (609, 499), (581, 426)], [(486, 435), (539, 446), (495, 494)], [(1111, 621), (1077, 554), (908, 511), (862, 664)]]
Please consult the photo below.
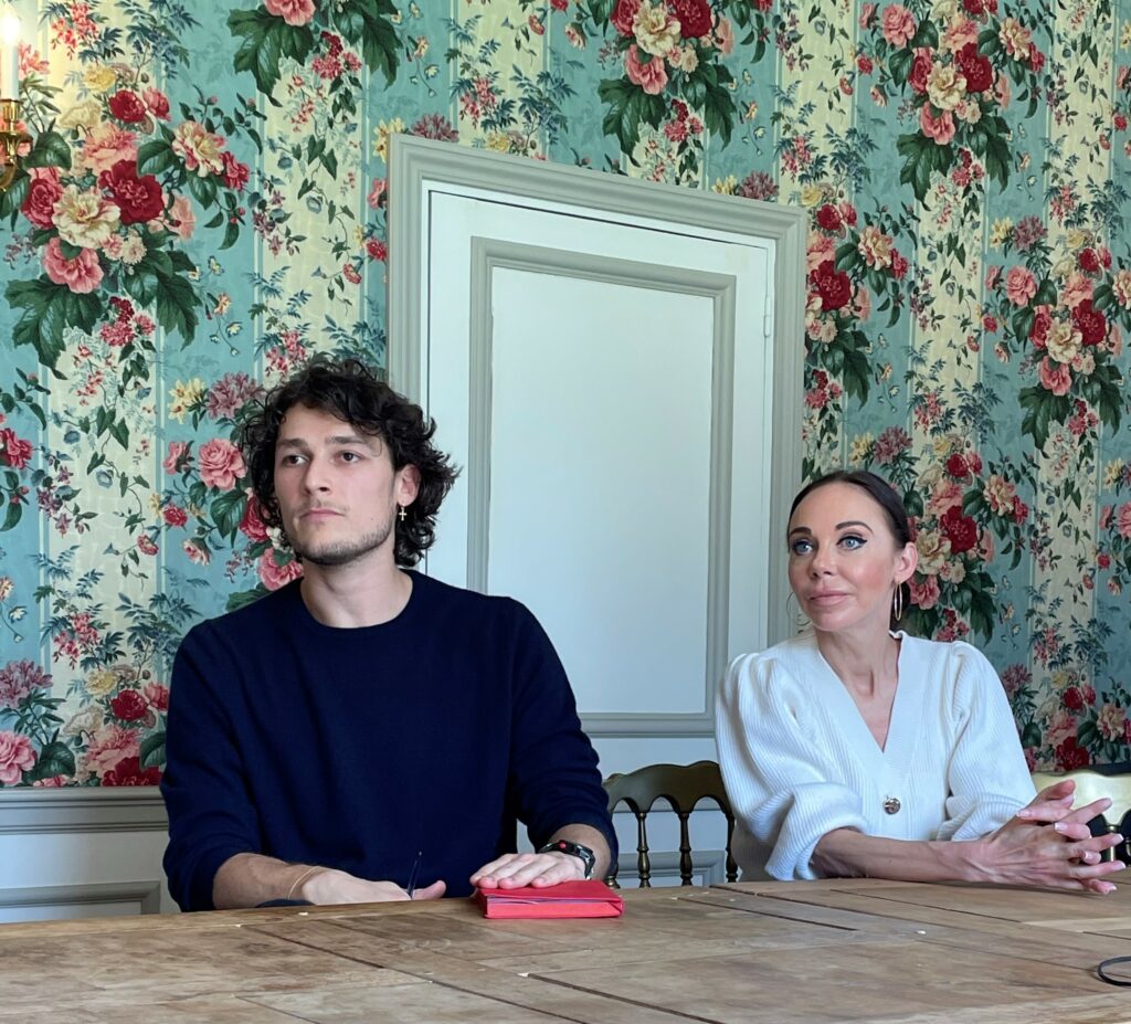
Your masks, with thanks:
[[(195, 627), (173, 666), (165, 872), (213, 907), (236, 853), (339, 868), (448, 895), (570, 824), (615, 837), (566, 673), (534, 616), (416, 573), (404, 611), (319, 623), (297, 582)], [(282, 895), (282, 894), (280, 894)]]

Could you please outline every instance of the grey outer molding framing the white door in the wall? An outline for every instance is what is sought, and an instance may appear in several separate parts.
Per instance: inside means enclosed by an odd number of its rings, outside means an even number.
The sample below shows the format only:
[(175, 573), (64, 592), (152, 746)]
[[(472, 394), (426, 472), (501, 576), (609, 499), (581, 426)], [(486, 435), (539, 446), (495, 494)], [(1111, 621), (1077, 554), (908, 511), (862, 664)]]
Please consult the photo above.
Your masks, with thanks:
[[(424, 263), (422, 227), (428, 222), (434, 192), (466, 195), (468, 190), (507, 192), (523, 206), (588, 209), (595, 220), (632, 217), (670, 223), (668, 230), (691, 236), (702, 236), (697, 234), (700, 231), (719, 232), (749, 235), (751, 242), (772, 242), (774, 289), (767, 313), (771, 319), (767, 326), (771, 329), (766, 333), (774, 344), (775, 422), (770, 438), (767, 643), (792, 636), (796, 630), (786, 608), (789, 585), (785, 544), (780, 539), (785, 536), (789, 502), (801, 482), (809, 231), (805, 212), (800, 207), (394, 135), (389, 143), (388, 378), (392, 387), (417, 403), (423, 397), (422, 309), (428, 308), (433, 287)], [(470, 326), (474, 334), (475, 322)], [(714, 732), (711, 696), (708, 692), (707, 707), (698, 714), (586, 715), (585, 722), (595, 735), (709, 735)]]

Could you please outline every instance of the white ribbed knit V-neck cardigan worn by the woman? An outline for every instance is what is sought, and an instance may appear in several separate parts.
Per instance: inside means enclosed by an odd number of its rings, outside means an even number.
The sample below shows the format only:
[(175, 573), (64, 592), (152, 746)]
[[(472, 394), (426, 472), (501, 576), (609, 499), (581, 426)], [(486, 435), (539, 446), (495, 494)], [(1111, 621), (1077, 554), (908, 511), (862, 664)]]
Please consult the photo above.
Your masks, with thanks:
[(716, 740), (744, 877), (817, 878), (813, 847), (834, 828), (977, 838), (1033, 799), (990, 662), (969, 644), (893, 636), (899, 685), (882, 750), (812, 634), (731, 663)]

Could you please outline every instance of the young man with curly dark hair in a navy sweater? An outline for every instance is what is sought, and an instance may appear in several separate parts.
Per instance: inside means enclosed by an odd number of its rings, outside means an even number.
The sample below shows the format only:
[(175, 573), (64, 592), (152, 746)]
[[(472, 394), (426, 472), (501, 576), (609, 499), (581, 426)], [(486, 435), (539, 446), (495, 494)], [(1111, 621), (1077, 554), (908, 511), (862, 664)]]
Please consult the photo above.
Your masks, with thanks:
[[(402, 568), (456, 476), (433, 431), (361, 363), (322, 359), (245, 425), (262, 518), (303, 576), (178, 653), (162, 792), (182, 909), (554, 885), (615, 855), (537, 621)], [(515, 852), (516, 819), (539, 852)]]

